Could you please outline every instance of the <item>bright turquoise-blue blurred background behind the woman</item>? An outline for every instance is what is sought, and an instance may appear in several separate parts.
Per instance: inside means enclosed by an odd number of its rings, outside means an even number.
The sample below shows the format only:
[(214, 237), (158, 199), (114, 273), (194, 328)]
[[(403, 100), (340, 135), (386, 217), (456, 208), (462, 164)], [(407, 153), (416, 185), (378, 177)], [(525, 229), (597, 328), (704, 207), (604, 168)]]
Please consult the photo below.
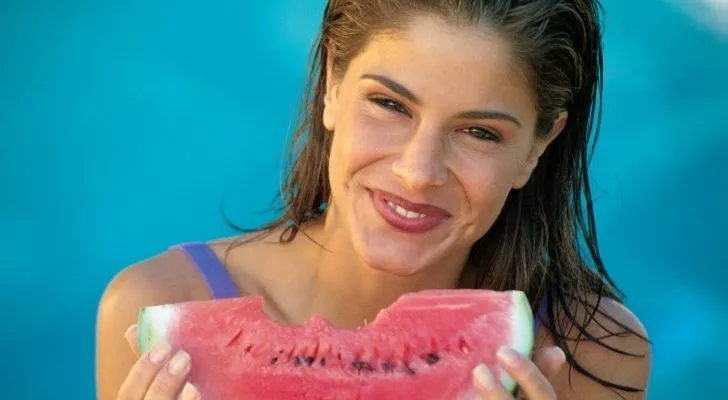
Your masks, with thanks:
[[(722, 398), (728, 37), (663, 1), (606, 3), (605, 259), (655, 341), (650, 398)], [(108, 280), (232, 234), (223, 199), (238, 222), (269, 216), (322, 9), (0, 2), (3, 398), (93, 398)]]

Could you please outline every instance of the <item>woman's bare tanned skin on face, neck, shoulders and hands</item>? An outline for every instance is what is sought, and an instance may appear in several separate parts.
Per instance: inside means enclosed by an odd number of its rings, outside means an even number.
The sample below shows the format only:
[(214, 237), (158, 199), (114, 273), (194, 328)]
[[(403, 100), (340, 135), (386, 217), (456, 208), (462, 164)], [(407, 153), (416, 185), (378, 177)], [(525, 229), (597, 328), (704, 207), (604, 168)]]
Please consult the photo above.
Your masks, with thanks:
[[(405, 35), (372, 41), (343, 76), (328, 65), (323, 123), (335, 132), (332, 201), (325, 217), (304, 230), (331, 251), (305, 235), (279, 245), (279, 232), (273, 232), (236, 247), (227, 259), (241, 292), (261, 295), (272, 318), (298, 324), (320, 314), (335, 326), (353, 327), (373, 320), (403, 293), (454, 287), (470, 247), (488, 231), (508, 193), (526, 184), (563, 129), (566, 113), (546, 137), (535, 138), (536, 107), (522, 76), (514, 73), (508, 44), (474, 28), (453, 28), (420, 18)], [(472, 110), (478, 110), (478, 118)], [(427, 234), (405, 234), (377, 213), (371, 195), (377, 191), (428, 203), (447, 217)], [(227, 244), (214, 246), (221, 258)], [(197, 271), (177, 251), (122, 271), (99, 308), (99, 399), (176, 399), (189, 365), (172, 374), (163, 368), (171, 354), (160, 363), (138, 357), (125, 333), (140, 307), (204, 299), (209, 293)], [(603, 301), (599, 309), (644, 336), (626, 308)], [(609, 318), (598, 317), (588, 329), (603, 337), (610, 326)], [(126, 336), (134, 342), (133, 329)], [(643, 393), (620, 397), (570, 372), (543, 329), (537, 339), (533, 360), (502, 363), (529, 400), (644, 398)], [(647, 342), (632, 335), (605, 342), (629, 353), (650, 352)], [(619, 356), (584, 342), (571, 350), (605, 380), (647, 386), (649, 356)], [(489, 384), (487, 369), (474, 372), (483, 399), (513, 399)], [(191, 393), (186, 395), (194, 398)]]

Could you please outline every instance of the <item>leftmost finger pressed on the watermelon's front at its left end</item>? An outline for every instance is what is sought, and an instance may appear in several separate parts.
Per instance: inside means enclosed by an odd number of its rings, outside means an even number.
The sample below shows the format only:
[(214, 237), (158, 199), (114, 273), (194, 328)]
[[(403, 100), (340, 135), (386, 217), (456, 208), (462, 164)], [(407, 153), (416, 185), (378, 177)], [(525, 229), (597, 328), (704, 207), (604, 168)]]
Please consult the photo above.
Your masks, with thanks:
[(172, 348), (163, 342), (145, 353), (129, 370), (119, 389), (119, 400), (142, 400), (163, 366), (169, 361)]

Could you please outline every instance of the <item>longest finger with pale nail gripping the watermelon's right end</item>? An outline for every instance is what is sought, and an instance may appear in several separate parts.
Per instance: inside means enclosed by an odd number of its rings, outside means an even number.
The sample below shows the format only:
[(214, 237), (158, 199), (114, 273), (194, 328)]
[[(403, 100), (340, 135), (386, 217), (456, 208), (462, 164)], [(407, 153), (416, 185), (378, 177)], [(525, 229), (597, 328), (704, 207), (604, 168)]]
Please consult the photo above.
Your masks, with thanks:
[(501, 367), (518, 383), (529, 400), (555, 400), (556, 393), (536, 364), (511, 349), (498, 350)]

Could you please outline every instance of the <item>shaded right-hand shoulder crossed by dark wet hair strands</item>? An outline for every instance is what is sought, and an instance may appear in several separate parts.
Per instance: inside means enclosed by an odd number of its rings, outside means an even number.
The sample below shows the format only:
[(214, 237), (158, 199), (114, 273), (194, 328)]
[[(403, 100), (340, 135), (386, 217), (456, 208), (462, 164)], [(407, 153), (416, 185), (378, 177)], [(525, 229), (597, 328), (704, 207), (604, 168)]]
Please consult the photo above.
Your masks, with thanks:
[(639, 318), (624, 304), (597, 296), (570, 311), (573, 318), (557, 322), (573, 357), (554, 382), (559, 400), (644, 399), (652, 348)]

